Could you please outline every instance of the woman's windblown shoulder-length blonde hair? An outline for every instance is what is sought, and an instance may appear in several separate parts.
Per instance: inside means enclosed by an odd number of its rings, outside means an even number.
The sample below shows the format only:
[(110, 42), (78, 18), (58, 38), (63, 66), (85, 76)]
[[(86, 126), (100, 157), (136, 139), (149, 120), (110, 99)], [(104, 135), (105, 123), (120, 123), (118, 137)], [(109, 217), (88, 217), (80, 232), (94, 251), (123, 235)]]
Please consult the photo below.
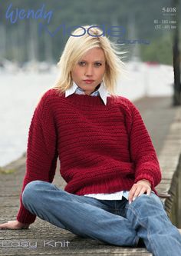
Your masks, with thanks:
[[(82, 32), (86, 30), (86, 33), (82, 35)], [(87, 29), (91, 35), (87, 33)], [(107, 91), (111, 95), (114, 95), (117, 85), (117, 78), (123, 71), (123, 62), (120, 60), (119, 55), (122, 52), (117, 50), (117, 45), (103, 36), (103, 31), (96, 25), (84, 25), (82, 28), (77, 28), (74, 32), (71, 32), (67, 43), (64, 47), (64, 51), (58, 62), (58, 68), (60, 68), (60, 77), (54, 85), (54, 88), (63, 93), (68, 88), (71, 88), (73, 81), (71, 78), (71, 70), (83, 55), (92, 48), (101, 48), (104, 51), (106, 58), (106, 69), (104, 73), (104, 85)], [(100, 36), (99, 36), (100, 35)]]

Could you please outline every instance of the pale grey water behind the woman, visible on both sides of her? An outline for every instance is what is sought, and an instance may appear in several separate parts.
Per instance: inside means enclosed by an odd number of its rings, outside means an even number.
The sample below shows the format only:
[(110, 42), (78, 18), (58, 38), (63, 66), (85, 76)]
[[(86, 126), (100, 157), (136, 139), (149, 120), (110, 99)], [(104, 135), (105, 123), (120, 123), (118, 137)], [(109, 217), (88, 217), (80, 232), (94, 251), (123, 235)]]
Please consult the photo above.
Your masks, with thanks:
[[(144, 95), (172, 95), (173, 68), (128, 63), (127, 77), (117, 83), (117, 93), (135, 100)], [(0, 166), (20, 157), (26, 151), (28, 128), (35, 105), (44, 91), (54, 85), (58, 71), (0, 73)]]

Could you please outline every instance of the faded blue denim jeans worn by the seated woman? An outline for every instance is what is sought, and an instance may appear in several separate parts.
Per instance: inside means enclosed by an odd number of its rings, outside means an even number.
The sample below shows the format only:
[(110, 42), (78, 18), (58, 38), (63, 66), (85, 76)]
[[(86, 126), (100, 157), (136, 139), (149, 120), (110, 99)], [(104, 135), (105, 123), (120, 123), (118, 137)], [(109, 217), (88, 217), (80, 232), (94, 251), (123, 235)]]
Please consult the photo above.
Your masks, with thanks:
[(22, 201), (32, 214), (81, 237), (129, 247), (137, 247), (142, 238), (154, 256), (181, 255), (181, 235), (153, 192), (129, 204), (126, 198), (99, 200), (31, 181)]

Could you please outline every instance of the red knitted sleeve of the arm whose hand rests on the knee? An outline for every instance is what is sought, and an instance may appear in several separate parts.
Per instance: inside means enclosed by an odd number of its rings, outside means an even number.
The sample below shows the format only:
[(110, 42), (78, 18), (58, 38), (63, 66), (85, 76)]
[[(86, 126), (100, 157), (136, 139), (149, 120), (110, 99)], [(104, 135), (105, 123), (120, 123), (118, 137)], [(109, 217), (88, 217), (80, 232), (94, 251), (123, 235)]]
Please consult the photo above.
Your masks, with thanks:
[(135, 183), (150, 181), (151, 188), (161, 181), (161, 171), (156, 151), (138, 109), (131, 105), (130, 156), (135, 163)]

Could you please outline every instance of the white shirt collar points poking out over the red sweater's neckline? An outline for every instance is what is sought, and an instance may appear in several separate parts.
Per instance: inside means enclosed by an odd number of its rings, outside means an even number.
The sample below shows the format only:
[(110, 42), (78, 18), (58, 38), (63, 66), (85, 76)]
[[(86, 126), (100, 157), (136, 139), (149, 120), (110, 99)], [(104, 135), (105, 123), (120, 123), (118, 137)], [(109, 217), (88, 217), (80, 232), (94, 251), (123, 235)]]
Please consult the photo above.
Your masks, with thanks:
[[(65, 91), (65, 98), (67, 98), (70, 95), (73, 95), (74, 93), (76, 94), (84, 94), (84, 91), (78, 87), (78, 85), (73, 81), (73, 85), (71, 88), (68, 88)], [(94, 91), (91, 96), (97, 96), (100, 95), (100, 98), (102, 101), (104, 101), (104, 105), (107, 105), (107, 96), (109, 95), (107, 89), (105, 88), (104, 82), (102, 81), (100, 84), (100, 87), (98, 88), (97, 91)]]

